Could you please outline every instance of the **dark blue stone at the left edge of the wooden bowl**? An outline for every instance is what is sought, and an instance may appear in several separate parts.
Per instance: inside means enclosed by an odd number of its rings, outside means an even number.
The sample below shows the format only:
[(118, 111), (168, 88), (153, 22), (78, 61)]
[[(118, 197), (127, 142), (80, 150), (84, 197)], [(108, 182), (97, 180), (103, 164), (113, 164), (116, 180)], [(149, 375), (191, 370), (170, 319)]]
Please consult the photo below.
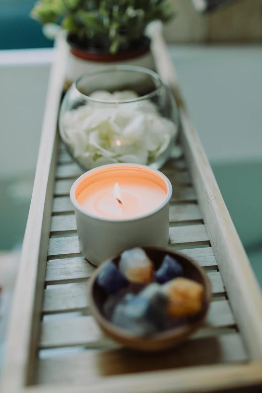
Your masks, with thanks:
[(97, 283), (108, 294), (115, 294), (129, 284), (112, 261), (108, 262), (104, 265), (103, 269), (101, 269), (97, 276)]

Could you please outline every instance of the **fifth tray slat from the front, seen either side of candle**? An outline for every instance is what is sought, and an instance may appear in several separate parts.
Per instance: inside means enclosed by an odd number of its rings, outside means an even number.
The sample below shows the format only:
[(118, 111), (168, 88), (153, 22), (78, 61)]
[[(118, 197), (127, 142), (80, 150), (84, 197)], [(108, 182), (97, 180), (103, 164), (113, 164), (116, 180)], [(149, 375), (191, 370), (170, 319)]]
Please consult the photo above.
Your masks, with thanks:
[[(169, 228), (170, 244), (183, 247), (187, 245), (208, 244), (205, 225), (187, 225)], [(77, 236), (51, 238), (48, 256), (77, 255), (80, 253)]]

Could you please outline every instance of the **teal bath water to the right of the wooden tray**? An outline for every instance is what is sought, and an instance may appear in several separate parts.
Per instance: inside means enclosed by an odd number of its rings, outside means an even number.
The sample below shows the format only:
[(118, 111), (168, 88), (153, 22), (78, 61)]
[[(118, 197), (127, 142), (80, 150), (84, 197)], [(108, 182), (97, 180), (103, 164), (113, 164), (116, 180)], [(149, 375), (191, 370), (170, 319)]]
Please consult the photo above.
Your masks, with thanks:
[(262, 160), (221, 163), (212, 169), (262, 287)]

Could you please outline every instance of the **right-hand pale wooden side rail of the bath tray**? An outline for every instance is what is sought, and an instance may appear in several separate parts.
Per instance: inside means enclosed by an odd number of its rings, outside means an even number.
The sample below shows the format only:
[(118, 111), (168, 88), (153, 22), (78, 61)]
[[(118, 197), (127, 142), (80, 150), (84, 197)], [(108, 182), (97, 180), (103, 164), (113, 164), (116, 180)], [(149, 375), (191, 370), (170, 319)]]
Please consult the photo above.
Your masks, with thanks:
[[(262, 359), (262, 296), (259, 284), (218, 188), (198, 134), (187, 113), (176, 69), (162, 35), (162, 25), (150, 30), (151, 51), (162, 80), (170, 86), (181, 115), (181, 140), (217, 265), (245, 345), (252, 359)], [(237, 196), (236, 196), (237, 197)]]

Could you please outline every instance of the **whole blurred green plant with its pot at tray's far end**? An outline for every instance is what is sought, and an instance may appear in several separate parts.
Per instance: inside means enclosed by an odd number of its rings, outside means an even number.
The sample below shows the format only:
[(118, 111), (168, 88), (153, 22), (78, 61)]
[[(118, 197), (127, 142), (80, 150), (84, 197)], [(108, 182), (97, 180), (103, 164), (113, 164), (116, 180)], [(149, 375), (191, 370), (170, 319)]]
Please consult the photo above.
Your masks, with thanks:
[(146, 26), (168, 21), (173, 12), (170, 0), (39, 0), (31, 15), (67, 31), (71, 84), (90, 67), (107, 63), (153, 68)]

